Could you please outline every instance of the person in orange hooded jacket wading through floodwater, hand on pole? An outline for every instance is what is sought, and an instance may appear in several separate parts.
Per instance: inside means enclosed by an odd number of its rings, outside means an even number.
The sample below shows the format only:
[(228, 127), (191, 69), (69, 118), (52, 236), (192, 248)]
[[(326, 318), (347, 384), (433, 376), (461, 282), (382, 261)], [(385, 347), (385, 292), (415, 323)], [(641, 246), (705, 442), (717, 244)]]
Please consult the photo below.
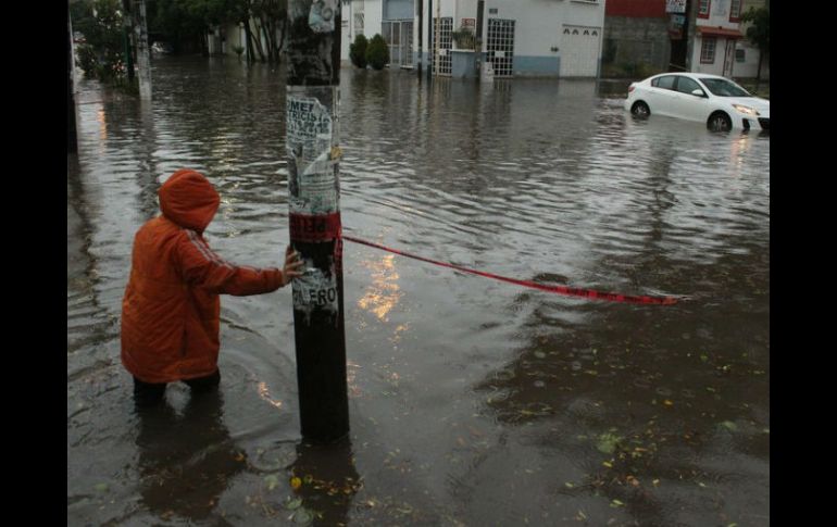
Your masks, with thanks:
[(159, 191), (162, 214), (134, 238), (130, 278), (122, 301), (122, 364), (134, 376), (140, 405), (163, 400), (168, 382), (205, 391), (217, 367), (218, 294), (261, 294), (301, 276), (288, 246), (283, 269), (235, 265), (215, 254), (203, 230), (218, 209), (212, 184), (192, 170), (175, 172)]

